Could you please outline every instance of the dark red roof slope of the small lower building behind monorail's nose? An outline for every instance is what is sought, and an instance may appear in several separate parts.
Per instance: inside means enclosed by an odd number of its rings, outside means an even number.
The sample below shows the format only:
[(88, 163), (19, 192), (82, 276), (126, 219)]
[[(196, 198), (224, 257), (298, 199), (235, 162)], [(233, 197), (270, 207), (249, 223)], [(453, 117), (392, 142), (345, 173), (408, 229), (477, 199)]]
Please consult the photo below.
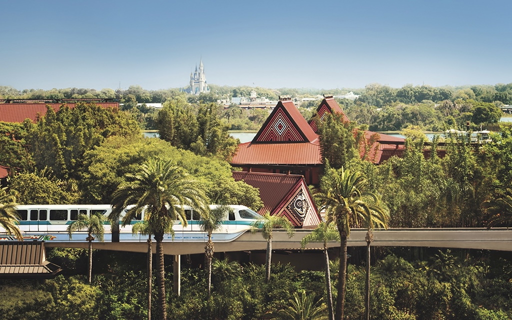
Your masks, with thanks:
[(281, 204), (290, 190), (301, 183), (303, 176), (269, 174), (261, 172), (243, 172), (233, 171), (233, 179), (243, 180), (245, 183), (260, 189), (260, 198), (263, 201), (263, 207), (258, 211), (260, 214), (267, 210), (272, 211)]

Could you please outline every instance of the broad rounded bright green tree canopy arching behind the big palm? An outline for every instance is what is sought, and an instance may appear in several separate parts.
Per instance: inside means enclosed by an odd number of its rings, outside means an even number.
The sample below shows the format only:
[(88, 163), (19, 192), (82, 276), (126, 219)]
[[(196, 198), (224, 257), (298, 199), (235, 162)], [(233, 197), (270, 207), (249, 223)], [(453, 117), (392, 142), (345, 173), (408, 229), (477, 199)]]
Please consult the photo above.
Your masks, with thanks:
[(212, 203), (236, 203), (254, 210), (263, 206), (259, 190), (234, 181), (229, 163), (180, 150), (161, 139), (110, 137), (84, 155), (80, 190), (86, 203), (111, 203), (125, 174), (136, 174), (147, 159), (174, 159), (178, 166), (201, 181)]

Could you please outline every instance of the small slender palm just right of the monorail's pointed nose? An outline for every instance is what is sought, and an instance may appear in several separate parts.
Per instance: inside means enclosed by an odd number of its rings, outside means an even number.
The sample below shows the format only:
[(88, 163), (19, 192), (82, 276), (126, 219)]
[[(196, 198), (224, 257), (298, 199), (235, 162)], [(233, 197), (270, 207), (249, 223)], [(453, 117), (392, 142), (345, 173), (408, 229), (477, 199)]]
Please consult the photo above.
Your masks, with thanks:
[(290, 220), (285, 217), (270, 216), (270, 212), (265, 212), (263, 219), (254, 221), (251, 224), (251, 232), (254, 233), (259, 229), (262, 229), (263, 239), (267, 240), (267, 255), (265, 265), (265, 282), (270, 282), (270, 264), (272, 263), (272, 229), (283, 228), (288, 233), (288, 237), (291, 238), (295, 230)]

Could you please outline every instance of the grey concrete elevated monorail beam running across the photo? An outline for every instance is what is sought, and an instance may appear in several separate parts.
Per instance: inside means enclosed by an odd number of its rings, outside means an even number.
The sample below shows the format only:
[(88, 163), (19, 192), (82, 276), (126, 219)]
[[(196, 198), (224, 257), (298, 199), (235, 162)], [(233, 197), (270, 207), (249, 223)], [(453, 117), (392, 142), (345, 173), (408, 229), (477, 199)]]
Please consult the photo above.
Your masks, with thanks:
[[(288, 238), (285, 231), (276, 229), (273, 232), (272, 249), (300, 248), (301, 240), (311, 230), (297, 229), (292, 238)], [(439, 247), (439, 248), (466, 248), (512, 251), (512, 229), (505, 228), (429, 228), (429, 229), (388, 229), (374, 230), (372, 246), (391, 247)], [(348, 239), (349, 246), (366, 246), (366, 229), (353, 229)], [(85, 237), (83, 237), (85, 238)], [(73, 236), (73, 239), (80, 239)], [(88, 243), (83, 242), (53, 242), (47, 241), (47, 247), (87, 248)], [(153, 242), (155, 245), (155, 242)], [(329, 242), (329, 247), (339, 246), (339, 242)], [(193, 254), (203, 253), (205, 242), (164, 242), (165, 254)], [(307, 248), (322, 247), (322, 243), (310, 243)], [(261, 232), (243, 233), (231, 242), (215, 243), (215, 251), (248, 251), (265, 250), (267, 242)], [(119, 250), (132, 252), (146, 252), (146, 239), (140, 238), (138, 242), (94, 242), (93, 248), (103, 250)]]

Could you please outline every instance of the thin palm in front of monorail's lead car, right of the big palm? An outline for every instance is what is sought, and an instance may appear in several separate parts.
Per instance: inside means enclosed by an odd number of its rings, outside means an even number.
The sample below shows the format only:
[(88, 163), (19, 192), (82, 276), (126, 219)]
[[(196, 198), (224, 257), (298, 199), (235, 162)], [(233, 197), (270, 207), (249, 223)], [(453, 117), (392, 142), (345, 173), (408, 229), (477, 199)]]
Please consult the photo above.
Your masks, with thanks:
[(208, 233), (208, 242), (206, 243), (206, 247), (204, 247), (204, 254), (206, 256), (208, 270), (208, 298), (210, 297), (211, 293), (211, 260), (214, 258), (215, 252), (214, 242), (211, 241), (211, 233), (222, 226), (225, 212), (227, 210), (230, 210), (230, 208), (226, 205), (218, 206), (215, 209), (207, 211), (207, 214), (201, 216), (199, 220), (201, 229)]

